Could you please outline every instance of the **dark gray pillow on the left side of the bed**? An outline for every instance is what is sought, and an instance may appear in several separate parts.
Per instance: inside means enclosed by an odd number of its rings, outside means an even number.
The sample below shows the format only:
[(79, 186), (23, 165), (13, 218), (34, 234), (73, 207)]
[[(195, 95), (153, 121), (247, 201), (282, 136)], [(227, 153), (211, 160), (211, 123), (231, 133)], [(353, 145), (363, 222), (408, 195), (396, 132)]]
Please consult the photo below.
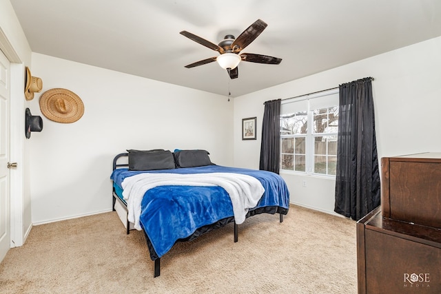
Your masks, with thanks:
[(131, 171), (152, 171), (174, 169), (174, 158), (170, 150), (134, 150), (129, 149), (129, 169)]

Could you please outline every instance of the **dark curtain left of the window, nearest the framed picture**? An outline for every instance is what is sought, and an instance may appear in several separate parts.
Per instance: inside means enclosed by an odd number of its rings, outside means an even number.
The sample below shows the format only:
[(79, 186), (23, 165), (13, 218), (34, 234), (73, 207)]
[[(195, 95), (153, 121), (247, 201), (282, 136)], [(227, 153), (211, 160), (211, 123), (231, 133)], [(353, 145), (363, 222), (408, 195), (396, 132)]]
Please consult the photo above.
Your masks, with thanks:
[(265, 102), (260, 143), (259, 169), (280, 171), (280, 104), (282, 100)]

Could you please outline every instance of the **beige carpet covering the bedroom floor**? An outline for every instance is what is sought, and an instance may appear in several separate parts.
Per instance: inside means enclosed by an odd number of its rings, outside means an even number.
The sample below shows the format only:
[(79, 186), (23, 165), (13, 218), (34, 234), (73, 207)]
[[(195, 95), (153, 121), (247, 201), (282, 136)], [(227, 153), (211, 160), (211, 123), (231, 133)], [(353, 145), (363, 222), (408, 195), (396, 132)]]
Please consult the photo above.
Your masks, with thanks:
[(292, 206), (175, 244), (153, 277), (143, 233), (115, 212), (32, 228), (0, 264), (0, 293), (356, 293), (356, 222)]

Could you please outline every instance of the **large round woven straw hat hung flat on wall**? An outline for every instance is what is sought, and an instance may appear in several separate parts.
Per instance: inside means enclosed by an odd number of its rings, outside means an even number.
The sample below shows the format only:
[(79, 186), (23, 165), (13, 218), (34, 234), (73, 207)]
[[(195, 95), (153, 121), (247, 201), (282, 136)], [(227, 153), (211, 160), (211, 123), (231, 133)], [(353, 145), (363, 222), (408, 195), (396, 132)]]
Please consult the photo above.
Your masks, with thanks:
[(74, 123), (84, 114), (81, 98), (63, 88), (54, 88), (41, 94), (40, 109), (45, 117), (57, 123)]

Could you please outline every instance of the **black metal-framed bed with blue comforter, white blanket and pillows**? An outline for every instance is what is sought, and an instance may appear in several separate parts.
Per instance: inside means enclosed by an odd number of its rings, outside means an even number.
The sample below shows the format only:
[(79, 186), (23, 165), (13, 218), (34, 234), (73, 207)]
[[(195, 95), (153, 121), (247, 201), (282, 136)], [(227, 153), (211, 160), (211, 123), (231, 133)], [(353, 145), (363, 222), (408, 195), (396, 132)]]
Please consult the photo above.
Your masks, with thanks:
[(270, 171), (215, 165), (205, 150), (134, 150), (118, 154), (110, 176), (113, 209), (125, 211), (125, 227), (143, 231), (154, 277), (161, 257), (176, 242), (260, 213), (289, 210), (289, 191), (283, 178)]

